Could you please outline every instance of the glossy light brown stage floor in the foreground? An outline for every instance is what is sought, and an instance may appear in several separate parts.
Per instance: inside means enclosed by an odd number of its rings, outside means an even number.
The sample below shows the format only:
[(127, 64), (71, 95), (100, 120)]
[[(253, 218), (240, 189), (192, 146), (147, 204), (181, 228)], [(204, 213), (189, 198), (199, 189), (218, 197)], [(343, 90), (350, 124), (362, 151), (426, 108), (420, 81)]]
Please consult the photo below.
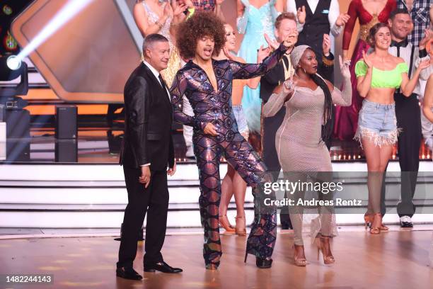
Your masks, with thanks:
[[(202, 259), (202, 234), (168, 232), (163, 256), (180, 274), (144, 273), (144, 280), (116, 278), (119, 242), (112, 237), (3, 239), (0, 273), (47, 273), (52, 285), (10, 288), (432, 288), (429, 264), (432, 226), (370, 235), (361, 227), (347, 227), (333, 239), (337, 260), (328, 266), (317, 261), (315, 248), (305, 237), (311, 263), (293, 263), (293, 234), (278, 234), (270, 269), (255, 267), (254, 256), (243, 263), (245, 237), (221, 237), (224, 254), (217, 271), (207, 271)], [(134, 268), (143, 274), (144, 244), (139, 243)]]

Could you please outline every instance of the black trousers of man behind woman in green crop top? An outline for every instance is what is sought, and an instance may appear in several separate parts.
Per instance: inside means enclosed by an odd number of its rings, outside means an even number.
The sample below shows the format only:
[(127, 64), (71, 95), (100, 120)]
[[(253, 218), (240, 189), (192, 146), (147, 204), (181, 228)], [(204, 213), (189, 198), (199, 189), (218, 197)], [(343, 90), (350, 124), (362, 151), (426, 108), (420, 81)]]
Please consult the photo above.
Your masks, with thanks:
[[(418, 168), (420, 166), (420, 145), (422, 140), (421, 113), (416, 94), (405, 97), (394, 94), (396, 102), (397, 127), (402, 131), (398, 136), (398, 162), (401, 171), (401, 202), (397, 205), (400, 217), (415, 213), (412, 200), (417, 186)], [(385, 215), (385, 176), (381, 191), (381, 213)]]

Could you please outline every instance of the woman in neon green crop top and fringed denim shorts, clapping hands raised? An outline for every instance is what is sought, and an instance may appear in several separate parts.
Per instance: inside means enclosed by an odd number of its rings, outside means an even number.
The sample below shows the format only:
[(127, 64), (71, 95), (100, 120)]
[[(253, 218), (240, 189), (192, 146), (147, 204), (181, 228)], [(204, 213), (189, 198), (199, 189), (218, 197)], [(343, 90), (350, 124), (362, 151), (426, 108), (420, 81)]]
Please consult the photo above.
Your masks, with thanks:
[(421, 62), (412, 79), (409, 79), (408, 64), (388, 52), (391, 31), (383, 23), (370, 29), (367, 40), (374, 52), (368, 56), (364, 52), (363, 60), (355, 65), (357, 90), (364, 98), (355, 138), (364, 148), (368, 169), (369, 205), (364, 220), (371, 225), (371, 234), (379, 234), (388, 229), (382, 224), (380, 208), (383, 171), (399, 132), (394, 93), (400, 89), (404, 96), (409, 97), (417, 85), (421, 70), (429, 64)]

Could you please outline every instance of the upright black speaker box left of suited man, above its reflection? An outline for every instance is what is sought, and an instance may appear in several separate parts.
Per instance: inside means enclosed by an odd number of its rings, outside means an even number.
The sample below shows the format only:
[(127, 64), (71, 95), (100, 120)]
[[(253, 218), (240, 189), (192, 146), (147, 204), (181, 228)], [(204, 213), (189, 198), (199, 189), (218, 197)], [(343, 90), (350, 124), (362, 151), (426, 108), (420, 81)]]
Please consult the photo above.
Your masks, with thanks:
[(56, 106), (55, 130), (59, 140), (75, 139), (78, 135), (76, 106)]

